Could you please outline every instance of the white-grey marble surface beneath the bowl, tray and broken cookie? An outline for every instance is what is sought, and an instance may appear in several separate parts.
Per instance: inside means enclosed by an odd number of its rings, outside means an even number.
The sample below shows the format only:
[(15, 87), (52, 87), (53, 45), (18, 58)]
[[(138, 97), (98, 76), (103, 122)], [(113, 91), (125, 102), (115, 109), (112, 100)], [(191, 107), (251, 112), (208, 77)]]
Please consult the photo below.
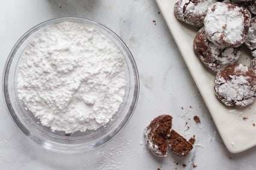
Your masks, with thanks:
[[(256, 148), (240, 154), (226, 150), (158, 11), (154, 0), (3, 1), (1, 72), (14, 43), (32, 26), (55, 17), (86, 17), (113, 29), (128, 44), (139, 69), (140, 97), (133, 118), (122, 132), (107, 144), (80, 154), (53, 153), (28, 139), (8, 116), (1, 97), (0, 169), (193, 169), (193, 163), (198, 165), (195, 169), (255, 169)], [(173, 116), (173, 129), (180, 133), (188, 123), (186, 138), (196, 135), (199, 146), (185, 159), (170, 153), (161, 159), (140, 144), (143, 129), (163, 113)], [(193, 121), (194, 115), (201, 118), (201, 124)]]

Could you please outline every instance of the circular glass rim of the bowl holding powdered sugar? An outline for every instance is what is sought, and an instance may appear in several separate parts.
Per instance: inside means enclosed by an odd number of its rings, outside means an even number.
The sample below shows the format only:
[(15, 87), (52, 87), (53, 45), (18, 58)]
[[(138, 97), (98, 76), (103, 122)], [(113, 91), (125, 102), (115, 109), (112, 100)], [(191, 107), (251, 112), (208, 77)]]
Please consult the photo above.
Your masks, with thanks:
[[(132, 100), (131, 100), (131, 104), (130, 104), (130, 109), (127, 112), (126, 116), (123, 118), (123, 120), (120, 121), (119, 126), (114, 128), (114, 130), (111, 131), (110, 134), (108, 134), (107, 136), (102, 138), (101, 141), (97, 142), (95, 145), (93, 145), (93, 147), (86, 147), (86, 148), (81, 147), (81, 149), (78, 148), (74, 151), (70, 148), (68, 150), (63, 150), (63, 149), (61, 149), (62, 147), (60, 147), (60, 148), (51, 147), (51, 146), (45, 144), (44, 141), (46, 141), (46, 140), (40, 139), (38, 136), (31, 135), (30, 130), (26, 126), (24, 126), (23, 123), (17, 117), (12, 104), (7, 101), (7, 99), (10, 99), (10, 96), (8, 94), (8, 78), (9, 77), (8, 77), (7, 73), (10, 70), (10, 63), (12, 62), (12, 59), (15, 56), (16, 51), (17, 51), (17, 49), (19, 49), (19, 47), (23, 43), (23, 41), (25, 41), (28, 37), (30, 37), (31, 34), (33, 34), (38, 29), (43, 28), (44, 26), (50, 25), (51, 23), (55, 23), (55, 22), (64, 22), (64, 21), (72, 21), (72, 20), (73, 21), (75, 21), (75, 20), (76, 21), (85, 21), (85, 22), (92, 23), (93, 25), (99, 26), (102, 29), (105, 29), (105, 31), (108, 31), (110, 34), (112, 34), (113, 37), (118, 40), (118, 43), (120, 43), (120, 45), (122, 45), (125, 52), (127, 53), (127, 56), (131, 62), (131, 66), (134, 71), (134, 93), (131, 93)], [(126, 44), (124, 43), (122, 38), (120, 38), (119, 35), (117, 35), (114, 31), (112, 31), (107, 26), (104, 26), (101, 23), (98, 23), (94, 20), (86, 19), (83, 17), (56, 17), (54, 19), (45, 20), (44, 22), (41, 22), (41, 23), (33, 26), (31, 29), (28, 29), (28, 31), (26, 31), (16, 41), (13, 48), (11, 49), (11, 51), (8, 55), (8, 58), (5, 62), (4, 71), (3, 71), (3, 75), (2, 75), (2, 94), (3, 94), (2, 97), (4, 98), (5, 108), (7, 109), (8, 115), (10, 115), (11, 120), (13, 120), (14, 124), (16, 124), (16, 126), (19, 127), (19, 129), (32, 141), (41, 145), (46, 150), (51, 150), (51, 151), (55, 151), (58, 153), (81, 153), (84, 151), (89, 151), (89, 150), (92, 150), (93, 148), (99, 147), (102, 144), (106, 144), (108, 141), (110, 141), (110, 139), (114, 138), (114, 136), (116, 136), (120, 132), (120, 130), (122, 130), (123, 127), (126, 126), (126, 124), (130, 121), (131, 117), (133, 116), (134, 111), (137, 106), (137, 102), (139, 100), (139, 91), (140, 91), (140, 80), (139, 80), (139, 73), (138, 73), (137, 65), (136, 65), (136, 62), (135, 62), (135, 59), (134, 59), (132, 53), (130, 52), (130, 49), (126, 46)]]

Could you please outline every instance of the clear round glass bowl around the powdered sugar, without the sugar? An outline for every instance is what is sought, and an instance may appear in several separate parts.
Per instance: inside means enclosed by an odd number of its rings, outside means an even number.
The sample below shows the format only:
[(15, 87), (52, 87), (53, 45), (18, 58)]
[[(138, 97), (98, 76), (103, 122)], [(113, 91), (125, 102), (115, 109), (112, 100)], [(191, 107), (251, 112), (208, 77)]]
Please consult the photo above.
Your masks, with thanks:
[[(87, 130), (86, 132), (75, 132), (70, 136), (67, 136), (64, 132), (60, 131), (52, 132), (49, 127), (43, 126), (40, 123), (40, 120), (34, 117), (30, 111), (27, 111), (25, 107), (22, 106), (22, 102), (19, 101), (16, 93), (17, 65), (22, 57), (23, 50), (28, 43), (30, 43), (31, 38), (42, 31), (45, 26), (64, 21), (86, 23), (92, 25), (93, 28), (102, 32), (102, 34), (105, 34), (117, 47), (119, 47), (120, 51), (123, 53), (127, 67), (125, 97), (119, 111), (113, 116), (113, 119), (99, 129)], [(37, 144), (42, 145), (43, 148), (61, 153), (80, 153), (87, 151), (98, 147), (113, 138), (113, 136), (125, 126), (128, 120), (130, 120), (139, 96), (139, 75), (136, 63), (125, 43), (123, 43), (120, 37), (113, 31), (105, 26), (92, 20), (78, 17), (61, 17), (48, 20), (27, 31), (17, 41), (8, 56), (4, 68), (2, 85), (8, 112), (19, 129), (30, 139), (37, 142)]]

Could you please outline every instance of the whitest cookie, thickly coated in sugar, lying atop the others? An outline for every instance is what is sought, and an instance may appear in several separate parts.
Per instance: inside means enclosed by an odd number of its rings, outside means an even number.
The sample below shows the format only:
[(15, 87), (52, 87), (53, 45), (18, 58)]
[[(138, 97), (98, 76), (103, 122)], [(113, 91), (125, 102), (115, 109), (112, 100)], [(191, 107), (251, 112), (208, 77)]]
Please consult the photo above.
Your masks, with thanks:
[(216, 2), (208, 6), (204, 19), (205, 35), (222, 47), (238, 47), (245, 42), (251, 13), (231, 2)]

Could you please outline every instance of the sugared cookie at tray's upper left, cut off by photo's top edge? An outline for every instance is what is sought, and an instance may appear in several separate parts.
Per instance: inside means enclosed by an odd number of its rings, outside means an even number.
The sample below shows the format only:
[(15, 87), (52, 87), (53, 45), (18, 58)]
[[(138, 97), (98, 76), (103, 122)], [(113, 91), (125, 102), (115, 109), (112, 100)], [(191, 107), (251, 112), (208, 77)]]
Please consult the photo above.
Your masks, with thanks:
[[(173, 0), (172, 0), (173, 1)], [(207, 7), (217, 0), (179, 0), (174, 5), (177, 19), (194, 26), (204, 25)]]

